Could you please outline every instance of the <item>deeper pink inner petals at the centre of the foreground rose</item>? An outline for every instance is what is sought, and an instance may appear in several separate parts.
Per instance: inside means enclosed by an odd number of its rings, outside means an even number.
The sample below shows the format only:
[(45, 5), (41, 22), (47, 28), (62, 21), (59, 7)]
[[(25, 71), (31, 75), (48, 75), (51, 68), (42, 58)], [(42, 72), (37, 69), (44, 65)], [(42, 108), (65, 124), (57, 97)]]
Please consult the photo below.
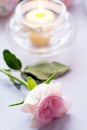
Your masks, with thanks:
[[(53, 118), (61, 116), (60, 109), (63, 107), (63, 104), (62, 97), (56, 95), (48, 96), (42, 101), (38, 108), (38, 120), (43, 124), (47, 124), (47, 122), (50, 122)], [(62, 114), (64, 113), (62, 112)]]

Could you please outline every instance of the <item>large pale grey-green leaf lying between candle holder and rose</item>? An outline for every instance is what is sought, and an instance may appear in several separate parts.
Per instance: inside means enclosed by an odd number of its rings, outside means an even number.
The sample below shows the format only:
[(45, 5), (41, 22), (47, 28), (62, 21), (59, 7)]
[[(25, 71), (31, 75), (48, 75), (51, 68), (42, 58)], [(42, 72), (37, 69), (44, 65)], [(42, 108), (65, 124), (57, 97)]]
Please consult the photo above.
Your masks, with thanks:
[(35, 77), (33, 79), (45, 81), (54, 73), (56, 73), (55, 78), (57, 78), (58, 76), (65, 74), (69, 69), (69, 66), (58, 62), (39, 62), (35, 65), (27, 66), (24, 69), (24, 73), (26, 73), (28, 76), (31, 75), (31, 77)]

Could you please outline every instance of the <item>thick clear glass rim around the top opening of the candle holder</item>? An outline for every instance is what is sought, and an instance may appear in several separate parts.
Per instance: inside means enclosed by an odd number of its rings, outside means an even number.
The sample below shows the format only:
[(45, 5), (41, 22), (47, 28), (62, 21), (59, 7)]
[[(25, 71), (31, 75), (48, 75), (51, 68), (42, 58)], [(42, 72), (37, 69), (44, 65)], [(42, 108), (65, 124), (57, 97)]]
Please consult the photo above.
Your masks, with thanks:
[[(35, 24), (35, 23), (32, 23), (32, 22), (29, 22), (29, 21), (27, 21), (27, 20), (25, 20), (24, 19), (24, 17), (23, 17), (23, 15), (22, 15), (22, 13), (20, 13), (20, 9), (21, 9), (21, 6), (23, 5), (23, 4), (25, 4), (25, 3), (27, 3), (27, 2), (30, 2), (30, 1), (36, 1), (36, 0), (25, 0), (25, 1), (22, 1), (22, 2), (20, 2), (18, 5), (17, 5), (17, 7), (16, 7), (16, 9), (15, 9), (15, 14), (16, 14), (16, 16), (23, 22), (23, 23), (25, 23), (26, 25), (29, 25), (29, 26), (31, 26), (31, 27), (33, 27), (33, 26), (37, 26), (37, 27), (40, 27), (40, 26), (50, 26), (50, 25), (52, 25), (52, 24), (55, 24), (56, 22), (58, 22), (58, 21), (60, 21), (64, 16), (65, 16), (65, 13), (66, 13), (66, 11), (67, 11), (67, 8), (66, 8), (66, 6), (65, 6), (65, 4), (63, 3), (63, 2), (61, 2), (61, 1), (59, 1), (59, 0), (51, 0), (51, 1), (49, 1), (49, 0), (44, 0), (45, 2), (46, 1), (48, 1), (48, 2), (53, 2), (53, 3), (55, 3), (55, 4), (59, 4), (59, 6), (61, 7), (61, 9), (62, 9), (62, 12), (60, 13), (60, 15), (56, 18), (56, 20), (55, 21), (51, 21), (51, 22), (49, 22), (49, 23), (43, 23), (43, 24)], [(42, 1), (42, 0), (40, 0), (40, 1)], [(49, 8), (48, 8), (49, 9)], [(53, 9), (52, 9), (53, 10)]]

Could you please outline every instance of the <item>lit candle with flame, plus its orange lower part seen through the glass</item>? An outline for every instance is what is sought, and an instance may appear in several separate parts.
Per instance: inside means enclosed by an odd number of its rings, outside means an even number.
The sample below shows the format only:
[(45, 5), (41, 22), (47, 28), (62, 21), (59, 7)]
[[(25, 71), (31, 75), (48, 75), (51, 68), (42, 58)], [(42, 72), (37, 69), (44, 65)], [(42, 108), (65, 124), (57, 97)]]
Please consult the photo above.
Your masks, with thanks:
[[(46, 23), (52, 22), (55, 19), (55, 13), (51, 10), (44, 9), (42, 1), (39, 0), (37, 9), (30, 10), (25, 15), (25, 19), (29, 23), (42, 26)], [(50, 41), (50, 36), (44, 37), (39, 32), (35, 31), (30, 33), (29, 38), (31, 42), (37, 46), (46, 45)]]

